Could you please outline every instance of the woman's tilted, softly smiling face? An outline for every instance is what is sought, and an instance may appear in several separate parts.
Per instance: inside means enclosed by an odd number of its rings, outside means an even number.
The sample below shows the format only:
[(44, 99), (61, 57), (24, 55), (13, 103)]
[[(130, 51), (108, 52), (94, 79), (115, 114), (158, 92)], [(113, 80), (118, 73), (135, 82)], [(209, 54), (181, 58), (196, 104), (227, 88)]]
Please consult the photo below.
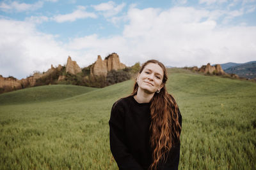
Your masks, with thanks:
[(138, 75), (138, 86), (147, 93), (154, 93), (163, 87), (163, 69), (156, 63), (148, 63)]

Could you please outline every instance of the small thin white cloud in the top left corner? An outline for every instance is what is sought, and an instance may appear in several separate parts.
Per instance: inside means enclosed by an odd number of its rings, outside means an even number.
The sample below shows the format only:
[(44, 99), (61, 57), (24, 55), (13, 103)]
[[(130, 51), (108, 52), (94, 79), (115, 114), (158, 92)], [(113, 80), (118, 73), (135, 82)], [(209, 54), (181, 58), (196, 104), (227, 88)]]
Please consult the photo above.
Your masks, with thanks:
[(12, 3), (9, 3), (9, 4), (2, 2), (0, 4), (0, 10), (2, 10), (2, 11), (17, 11), (17, 12), (35, 11), (38, 8), (42, 8), (43, 4), (44, 3), (42, 1), (38, 1), (34, 4), (19, 3), (17, 1), (13, 1)]

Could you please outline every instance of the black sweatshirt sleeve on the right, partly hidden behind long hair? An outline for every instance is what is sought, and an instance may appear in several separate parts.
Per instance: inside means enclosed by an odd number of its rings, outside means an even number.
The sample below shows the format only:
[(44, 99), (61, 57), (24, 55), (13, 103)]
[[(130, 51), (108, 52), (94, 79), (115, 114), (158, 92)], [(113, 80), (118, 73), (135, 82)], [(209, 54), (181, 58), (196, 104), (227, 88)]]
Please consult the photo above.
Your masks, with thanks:
[[(182, 126), (182, 117), (180, 114), (180, 111), (178, 112), (179, 115), (179, 124), (180, 127)], [(180, 129), (181, 132), (181, 129)], [(180, 160), (180, 141), (176, 143), (170, 152), (168, 153), (168, 157), (166, 160), (166, 163), (163, 164), (163, 166), (159, 167), (161, 170), (178, 170), (179, 167), (179, 160)]]

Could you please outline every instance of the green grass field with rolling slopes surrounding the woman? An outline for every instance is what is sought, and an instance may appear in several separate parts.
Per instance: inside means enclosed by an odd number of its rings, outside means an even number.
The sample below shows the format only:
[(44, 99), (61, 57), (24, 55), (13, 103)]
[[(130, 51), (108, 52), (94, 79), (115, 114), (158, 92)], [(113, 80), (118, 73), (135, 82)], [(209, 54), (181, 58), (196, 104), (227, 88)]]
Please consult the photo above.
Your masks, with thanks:
[[(182, 113), (179, 169), (256, 169), (256, 83), (183, 69), (168, 74), (168, 92)], [(108, 120), (133, 84), (1, 94), (0, 169), (118, 169)]]

